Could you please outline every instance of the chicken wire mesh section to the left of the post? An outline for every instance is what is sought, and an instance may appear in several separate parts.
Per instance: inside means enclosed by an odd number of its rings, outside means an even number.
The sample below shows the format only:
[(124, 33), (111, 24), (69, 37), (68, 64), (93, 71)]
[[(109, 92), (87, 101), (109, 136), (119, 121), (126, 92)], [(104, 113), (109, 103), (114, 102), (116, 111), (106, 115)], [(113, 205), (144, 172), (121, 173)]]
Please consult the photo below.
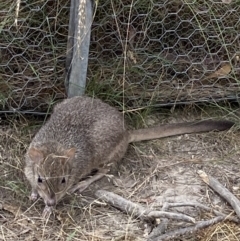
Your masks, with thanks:
[(69, 5), (64, 0), (1, 1), (2, 111), (47, 111), (64, 98)]

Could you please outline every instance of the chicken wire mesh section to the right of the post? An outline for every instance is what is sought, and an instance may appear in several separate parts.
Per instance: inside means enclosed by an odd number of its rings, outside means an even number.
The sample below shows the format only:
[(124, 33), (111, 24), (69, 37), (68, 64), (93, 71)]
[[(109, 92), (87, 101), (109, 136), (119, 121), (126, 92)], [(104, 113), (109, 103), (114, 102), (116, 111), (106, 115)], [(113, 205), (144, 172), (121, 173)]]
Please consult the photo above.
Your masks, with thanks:
[(225, 2), (100, 0), (89, 79), (138, 107), (238, 98), (240, 5)]

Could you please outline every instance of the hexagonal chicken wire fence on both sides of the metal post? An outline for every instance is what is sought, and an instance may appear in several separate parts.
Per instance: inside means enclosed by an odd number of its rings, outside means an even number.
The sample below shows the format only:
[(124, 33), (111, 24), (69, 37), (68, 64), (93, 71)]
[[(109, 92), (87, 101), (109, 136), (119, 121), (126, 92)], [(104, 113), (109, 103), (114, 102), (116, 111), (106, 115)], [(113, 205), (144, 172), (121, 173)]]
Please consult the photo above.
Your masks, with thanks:
[[(238, 99), (239, 3), (94, 2), (86, 92), (138, 107)], [(45, 112), (66, 97), (70, 4), (0, 3), (1, 111)]]

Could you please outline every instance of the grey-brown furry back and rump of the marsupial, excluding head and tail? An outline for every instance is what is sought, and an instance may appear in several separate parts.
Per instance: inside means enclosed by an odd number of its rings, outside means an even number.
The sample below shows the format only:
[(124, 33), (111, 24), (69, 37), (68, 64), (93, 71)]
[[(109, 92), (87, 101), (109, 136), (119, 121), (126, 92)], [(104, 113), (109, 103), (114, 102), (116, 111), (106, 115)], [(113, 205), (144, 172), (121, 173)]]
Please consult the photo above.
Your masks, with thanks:
[[(47, 123), (34, 137), (31, 146), (56, 142), (64, 148), (76, 148), (78, 169), (120, 159), (126, 149), (123, 115), (99, 99), (73, 97), (54, 107)], [(119, 147), (119, 153), (114, 152)], [(118, 161), (118, 160), (115, 160)]]

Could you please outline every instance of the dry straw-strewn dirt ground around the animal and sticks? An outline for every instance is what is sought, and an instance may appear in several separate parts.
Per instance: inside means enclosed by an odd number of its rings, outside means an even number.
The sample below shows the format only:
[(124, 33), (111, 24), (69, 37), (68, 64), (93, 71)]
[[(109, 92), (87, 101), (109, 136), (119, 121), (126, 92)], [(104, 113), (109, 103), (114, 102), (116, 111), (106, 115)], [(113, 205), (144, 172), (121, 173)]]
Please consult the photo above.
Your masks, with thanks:
[[(151, 116), (146, 123), (191, 121), (213, 115), (206, 110), (193, 114), (188, 110), (175, 111), (171, 116)], [(226, 116), (226, 112), (221, 115)], [(97, 189), (157, 210), (165, 202), (197, 201), (223, 213), (233, 212), (203, 183), (198, 170), (211, 174), (237, 197), (240, 195), (240, 133), (233, 129), (182, 135), (131, 145), (125, 158), (112, 166), (107, 177), (81, 195), (64, 198), (55, 216), (46, 222), (41, 219), (42, 200), (32, 203), (28, 199), (30, 187), (22, 172), (25, 150), (39, 125), (26, 119), (20, 123), (13, 121), (0, 128), (0, 240), (145, 240), (151, 225), (97, 200), (94, 197)], [(190, 215), (197, 221), (214, 216), (193, 207), (171, 211)], [(183, 225), (171, 220), (168, 230)], [(240, 229), (234, 223), (222, 222), (176, 240), (240, 240)]]

